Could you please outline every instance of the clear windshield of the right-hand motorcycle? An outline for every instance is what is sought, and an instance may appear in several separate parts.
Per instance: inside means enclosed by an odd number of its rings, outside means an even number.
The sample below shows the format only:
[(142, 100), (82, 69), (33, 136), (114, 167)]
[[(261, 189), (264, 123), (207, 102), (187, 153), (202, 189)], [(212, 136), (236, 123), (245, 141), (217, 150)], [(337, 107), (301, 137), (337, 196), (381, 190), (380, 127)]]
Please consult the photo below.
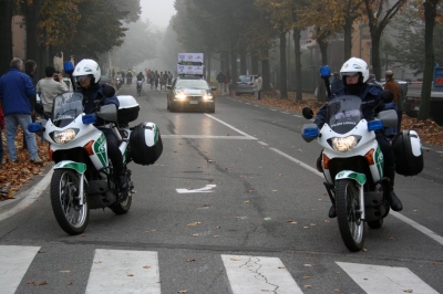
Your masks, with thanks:
[(358, 96), (340, 96), (333, 98), (327, 106), (327, 122), (338, 134), (346, 134), (363, 118), (361, 99)]

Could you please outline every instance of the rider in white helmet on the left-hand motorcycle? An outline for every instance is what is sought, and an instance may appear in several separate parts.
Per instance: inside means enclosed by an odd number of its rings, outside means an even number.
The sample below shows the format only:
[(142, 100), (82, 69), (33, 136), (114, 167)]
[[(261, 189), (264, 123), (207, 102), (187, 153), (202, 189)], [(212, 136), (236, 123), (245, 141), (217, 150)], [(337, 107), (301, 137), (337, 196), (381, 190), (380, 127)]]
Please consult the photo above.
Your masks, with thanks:
[[(83, 94), (83, 107), (85, 114), (93, 114), (100, 109), (100, 106), (107, 104), (115, 104), (119, 108), (120, 102), (115, 94), (112, 97), (106, 97), (103, 94), (103, 88), (109, 85), (99, 84), (101, 70), (95, 61), (89, 59), (80, 61), (72, 75), (80, 86), (78, 91)], [(107, 155), (112, 161), (114, 175), (116, 175), (117, 187), (120, 188), (120, 191), (126, 191), (130, 185), (123, 167), (123, 155), (119, 149), (117, 137), (111, 128), (106, 127), (104, 120), (99, 119), (97, 123), (95, 123), (95, 127), (103, 132), (106, 137)]]

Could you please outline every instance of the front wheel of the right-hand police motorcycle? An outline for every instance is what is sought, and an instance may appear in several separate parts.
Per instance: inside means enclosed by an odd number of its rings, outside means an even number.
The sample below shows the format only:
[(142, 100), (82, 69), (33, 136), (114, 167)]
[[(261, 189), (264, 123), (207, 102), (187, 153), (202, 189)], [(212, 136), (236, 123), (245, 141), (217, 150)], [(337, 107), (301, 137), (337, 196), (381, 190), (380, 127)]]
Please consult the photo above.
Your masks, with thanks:
[(364, 221), (361, 219), (359, 190), (352, 180), (339, 180), (336, 188), (336, 211), (341, 239), (352, 252), (364, 244)]

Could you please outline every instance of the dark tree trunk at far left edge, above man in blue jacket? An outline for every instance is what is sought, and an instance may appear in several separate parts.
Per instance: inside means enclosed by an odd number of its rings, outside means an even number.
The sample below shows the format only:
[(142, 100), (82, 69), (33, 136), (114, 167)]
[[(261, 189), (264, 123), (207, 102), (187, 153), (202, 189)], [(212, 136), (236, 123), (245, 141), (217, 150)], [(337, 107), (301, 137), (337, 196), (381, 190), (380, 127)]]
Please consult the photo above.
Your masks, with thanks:
[(12, 11), (16, 1), (0, 1), (0, 76), (9, 71), (12, 55)]

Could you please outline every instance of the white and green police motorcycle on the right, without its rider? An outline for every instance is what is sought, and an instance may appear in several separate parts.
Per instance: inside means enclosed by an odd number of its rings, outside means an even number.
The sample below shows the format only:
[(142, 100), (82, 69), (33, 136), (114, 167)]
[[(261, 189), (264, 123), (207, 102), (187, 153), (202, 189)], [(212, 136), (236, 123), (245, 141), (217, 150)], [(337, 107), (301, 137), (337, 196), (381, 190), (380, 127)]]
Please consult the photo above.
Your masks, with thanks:
[[(311, 119), (313, 112), (306, 107), (302, 115)], [(390, 180), (383, 175), (383, 154), (375, 130), (395, 127), (396, 119), (395, 111), (389, 109), (368, 122), (362, 114), (360, 97), (340, 96), (328, 102), (321, 129), (316, 124), (302, 126), (302, 138), (308, 143), (317, 138), (323, 148), (317, 169), (323, 174), (323, 185), (336, 206), (341, 239), (352, 252), (363, 249), (364, 223), (379, 229), (389, 214)], [(414, 176), (423, 169), (420, 138), (413, 130), (403, 130), (402, 134), (393, 141), (395, 162), (409, 161), (410, 167), (405, 168), (408, 170), (400, 167), (396, 172)]]

